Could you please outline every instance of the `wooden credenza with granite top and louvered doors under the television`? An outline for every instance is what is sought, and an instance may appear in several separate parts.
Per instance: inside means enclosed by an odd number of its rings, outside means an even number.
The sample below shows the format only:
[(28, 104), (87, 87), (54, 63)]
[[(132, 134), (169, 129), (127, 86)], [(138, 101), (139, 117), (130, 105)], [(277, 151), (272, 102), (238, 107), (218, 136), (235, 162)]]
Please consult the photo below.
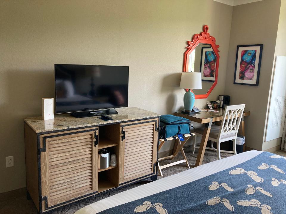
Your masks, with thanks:
[[(133, 182), (157, 179), (160, 115), (119, 108), (113, 121), (98, 117), (24, 119), (27, 191), (39, 213)], [(98, 150), (117, 166), (98, 167)]]

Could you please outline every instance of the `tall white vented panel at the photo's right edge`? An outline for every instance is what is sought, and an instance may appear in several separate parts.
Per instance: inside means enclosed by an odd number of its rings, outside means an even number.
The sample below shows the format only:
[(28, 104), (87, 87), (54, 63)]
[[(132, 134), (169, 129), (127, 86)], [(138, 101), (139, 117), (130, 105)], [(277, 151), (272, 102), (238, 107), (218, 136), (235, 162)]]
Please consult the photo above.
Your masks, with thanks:
[(286, 113), (286, 56), (276, 56), (265, 141), (282, 137)]

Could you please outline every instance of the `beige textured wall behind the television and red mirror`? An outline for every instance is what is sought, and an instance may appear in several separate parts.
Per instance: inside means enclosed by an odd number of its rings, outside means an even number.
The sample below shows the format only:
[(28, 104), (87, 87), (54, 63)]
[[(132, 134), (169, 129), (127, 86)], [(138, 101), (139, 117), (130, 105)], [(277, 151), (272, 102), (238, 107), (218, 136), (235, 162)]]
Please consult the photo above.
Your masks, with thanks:
[(224, 93), (231, 15), (211, 0), (0, 1), (0, 193), (26, 185), (23, 118), (54, 96), (54, 63), (129, 66), (129, 106), (172, 113), (183, 106), (186, 41), (204, 24), (220, 45), (209, 100)]

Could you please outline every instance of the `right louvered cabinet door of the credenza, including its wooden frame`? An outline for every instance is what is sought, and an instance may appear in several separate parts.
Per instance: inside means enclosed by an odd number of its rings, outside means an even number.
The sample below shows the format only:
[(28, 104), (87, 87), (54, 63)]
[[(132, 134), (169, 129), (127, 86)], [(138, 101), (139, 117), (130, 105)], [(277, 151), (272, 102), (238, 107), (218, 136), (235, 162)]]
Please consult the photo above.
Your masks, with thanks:
[(121, 124), (119, 182), (156, 173), (158, 119)]

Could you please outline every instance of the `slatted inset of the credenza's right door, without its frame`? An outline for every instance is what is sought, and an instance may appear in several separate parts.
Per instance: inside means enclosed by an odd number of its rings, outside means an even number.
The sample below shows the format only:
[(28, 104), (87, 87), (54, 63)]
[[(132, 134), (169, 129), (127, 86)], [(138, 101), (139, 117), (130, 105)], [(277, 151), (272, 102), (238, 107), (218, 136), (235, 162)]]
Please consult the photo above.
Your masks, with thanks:
[(124, 180), (153, 172), (154, 125), (125, 128)]

